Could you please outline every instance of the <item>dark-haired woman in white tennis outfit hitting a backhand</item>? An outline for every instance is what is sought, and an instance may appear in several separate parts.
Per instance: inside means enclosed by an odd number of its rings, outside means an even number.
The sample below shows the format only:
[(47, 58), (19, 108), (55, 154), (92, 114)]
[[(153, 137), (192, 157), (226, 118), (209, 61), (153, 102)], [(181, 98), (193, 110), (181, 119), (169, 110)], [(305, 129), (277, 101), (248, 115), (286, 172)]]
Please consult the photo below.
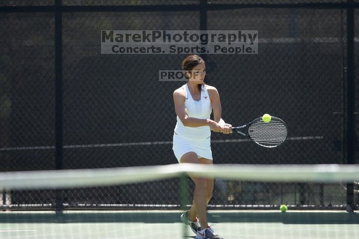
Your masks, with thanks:
[[(177, 114), (173, 152), (179, 163), (213, 164), (211, 130), (229, 134), (232, 133), (232, 126), (222, 120), (217, 89), (204, 83), (205, 61), (198, 55), (189, 55), (182, 62), (182, 68), (188, 81), (173, 92)], [(214, 120), (210, 120), (212, 109)], [(181, 215), (182, 222), (190, 225), (197, 239), (223, 239), (207, 222), (207, 204), (212, 197), (213, 178), (189, 176), (195, 184), (193, 205)]]

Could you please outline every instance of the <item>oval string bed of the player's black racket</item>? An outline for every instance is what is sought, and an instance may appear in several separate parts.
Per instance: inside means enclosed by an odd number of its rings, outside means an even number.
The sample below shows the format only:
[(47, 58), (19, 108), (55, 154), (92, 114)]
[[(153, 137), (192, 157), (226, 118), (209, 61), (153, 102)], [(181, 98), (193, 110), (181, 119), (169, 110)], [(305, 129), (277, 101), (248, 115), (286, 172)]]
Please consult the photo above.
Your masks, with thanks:
[(272, 118), (268, 123), (262, 120), (253, 123), (248, 129), (248, 133), (257, 144), (275, 147), (286, 140), (287, 127), (281, 120)]

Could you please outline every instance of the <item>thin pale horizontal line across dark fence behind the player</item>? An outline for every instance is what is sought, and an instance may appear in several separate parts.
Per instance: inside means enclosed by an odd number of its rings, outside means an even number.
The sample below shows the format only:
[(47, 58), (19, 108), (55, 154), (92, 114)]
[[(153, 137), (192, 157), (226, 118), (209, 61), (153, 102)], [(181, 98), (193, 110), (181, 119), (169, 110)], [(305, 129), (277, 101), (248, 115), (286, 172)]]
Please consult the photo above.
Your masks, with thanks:
[[(287, 140), (323, 140), (323, 136), (297, 136), (288, 137)], [(251, 140), (235, 139), (235, 140), (212, 140), (212, 143), (240, 143), (249, 142)], [(71, 148), (97, 148), (97, 147), (122, 147), (122, 146), (138, 146), (138, 145), (167, 145), (172, 144), (172, 141), (154, 141), (154, 142), (134, 142), (134, 143), (117, 143), (117, 144), (95, 144), (95, 145), (65, 145), (65, 149)], [(37, 146), (37, 147), (13, 147), (13, 148), (0, 148), (0, 151), (11, 150), (33, 150), (33, 149), (54, 149), (55, 146)]]

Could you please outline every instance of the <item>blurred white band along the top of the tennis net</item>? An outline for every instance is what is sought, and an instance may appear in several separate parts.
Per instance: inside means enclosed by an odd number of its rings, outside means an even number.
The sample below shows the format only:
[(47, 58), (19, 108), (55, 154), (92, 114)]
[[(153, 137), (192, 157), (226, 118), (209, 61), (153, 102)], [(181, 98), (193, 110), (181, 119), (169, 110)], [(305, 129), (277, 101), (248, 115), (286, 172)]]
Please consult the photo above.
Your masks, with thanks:
[(171, 164), (102, 169), (1, 172), (3, 189), (61, 189), (163, 180), (191, 173), (200, 177), (258, 182), (354, 182), (359, 165), (197, 165)]

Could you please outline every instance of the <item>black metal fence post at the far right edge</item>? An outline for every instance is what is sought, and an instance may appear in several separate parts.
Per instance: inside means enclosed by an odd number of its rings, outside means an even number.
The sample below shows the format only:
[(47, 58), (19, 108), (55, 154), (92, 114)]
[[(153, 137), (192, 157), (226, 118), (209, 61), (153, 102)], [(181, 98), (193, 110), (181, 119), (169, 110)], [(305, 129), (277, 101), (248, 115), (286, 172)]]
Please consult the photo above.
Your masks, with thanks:
[[(347, 1), (353, 3), (353, 0)], [(347, 7), (347, 164), (355, 164), (356, 135), (355, 135), (355, 68), (354, 68), (354, 8)], [(353, 182), (347, 184), (348, 212), (354, 211)]]

